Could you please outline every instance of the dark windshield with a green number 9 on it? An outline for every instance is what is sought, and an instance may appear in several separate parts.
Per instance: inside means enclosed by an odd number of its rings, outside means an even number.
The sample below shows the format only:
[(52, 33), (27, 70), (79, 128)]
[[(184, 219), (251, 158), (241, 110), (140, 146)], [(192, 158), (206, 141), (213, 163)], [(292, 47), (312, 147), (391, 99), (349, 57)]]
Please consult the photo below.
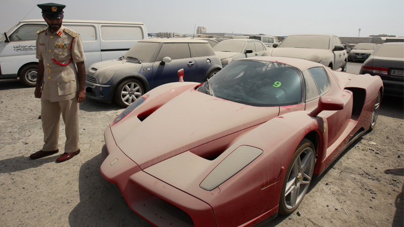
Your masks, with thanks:
[(198, 91), (252, 106), (281, 106), (300, 103), (300, 71), (264, 61), (240, 60), (219, 71)]

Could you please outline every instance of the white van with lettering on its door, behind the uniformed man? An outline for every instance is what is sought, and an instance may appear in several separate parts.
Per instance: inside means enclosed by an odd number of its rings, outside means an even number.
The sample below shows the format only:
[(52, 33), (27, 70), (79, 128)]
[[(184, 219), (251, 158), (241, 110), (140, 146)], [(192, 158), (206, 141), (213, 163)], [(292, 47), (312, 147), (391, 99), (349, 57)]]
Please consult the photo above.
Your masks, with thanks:
[[(20, 78), (35, 86), (38, 60), (35, 58), (36, 32), (46, 27), (44, 20), (25, 20), (0, 39), (0, 79)], [(147, 39), (146, 27), (140, 22), (63, 20), (80, 34), (86, 57), (85, 66), (118, 59), (138, 40)]]

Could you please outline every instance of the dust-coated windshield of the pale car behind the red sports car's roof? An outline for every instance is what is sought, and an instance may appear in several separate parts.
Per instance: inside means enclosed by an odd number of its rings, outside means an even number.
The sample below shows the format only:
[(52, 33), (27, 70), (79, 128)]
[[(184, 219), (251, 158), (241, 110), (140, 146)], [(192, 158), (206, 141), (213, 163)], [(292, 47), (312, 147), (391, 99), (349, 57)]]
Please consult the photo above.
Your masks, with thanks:
[(324, 35), (291, 35), (286, 37), (279, 47), (328, 49), (330, 37)]

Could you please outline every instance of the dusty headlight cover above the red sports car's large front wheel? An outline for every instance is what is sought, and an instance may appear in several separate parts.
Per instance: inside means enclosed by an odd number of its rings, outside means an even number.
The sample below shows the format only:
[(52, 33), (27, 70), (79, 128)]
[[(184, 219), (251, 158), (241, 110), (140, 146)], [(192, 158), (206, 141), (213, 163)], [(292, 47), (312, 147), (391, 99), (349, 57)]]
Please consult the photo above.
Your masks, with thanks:
[(199, 187), (212, 191), (241, 171), (263, 153), (263, 150), (251, 146), (239, 146), (220, 162), (200, 183)]

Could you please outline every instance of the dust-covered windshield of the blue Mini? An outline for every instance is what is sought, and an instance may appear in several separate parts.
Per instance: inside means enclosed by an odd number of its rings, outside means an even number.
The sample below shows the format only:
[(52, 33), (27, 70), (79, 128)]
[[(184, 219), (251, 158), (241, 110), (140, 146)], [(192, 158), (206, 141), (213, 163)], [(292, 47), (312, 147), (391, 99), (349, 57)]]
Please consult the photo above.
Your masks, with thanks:
[(141, 62), (150, 62), (159, 44), (158, 42), (137, 42), (123, 55), (123, 59), (136, 58)]

